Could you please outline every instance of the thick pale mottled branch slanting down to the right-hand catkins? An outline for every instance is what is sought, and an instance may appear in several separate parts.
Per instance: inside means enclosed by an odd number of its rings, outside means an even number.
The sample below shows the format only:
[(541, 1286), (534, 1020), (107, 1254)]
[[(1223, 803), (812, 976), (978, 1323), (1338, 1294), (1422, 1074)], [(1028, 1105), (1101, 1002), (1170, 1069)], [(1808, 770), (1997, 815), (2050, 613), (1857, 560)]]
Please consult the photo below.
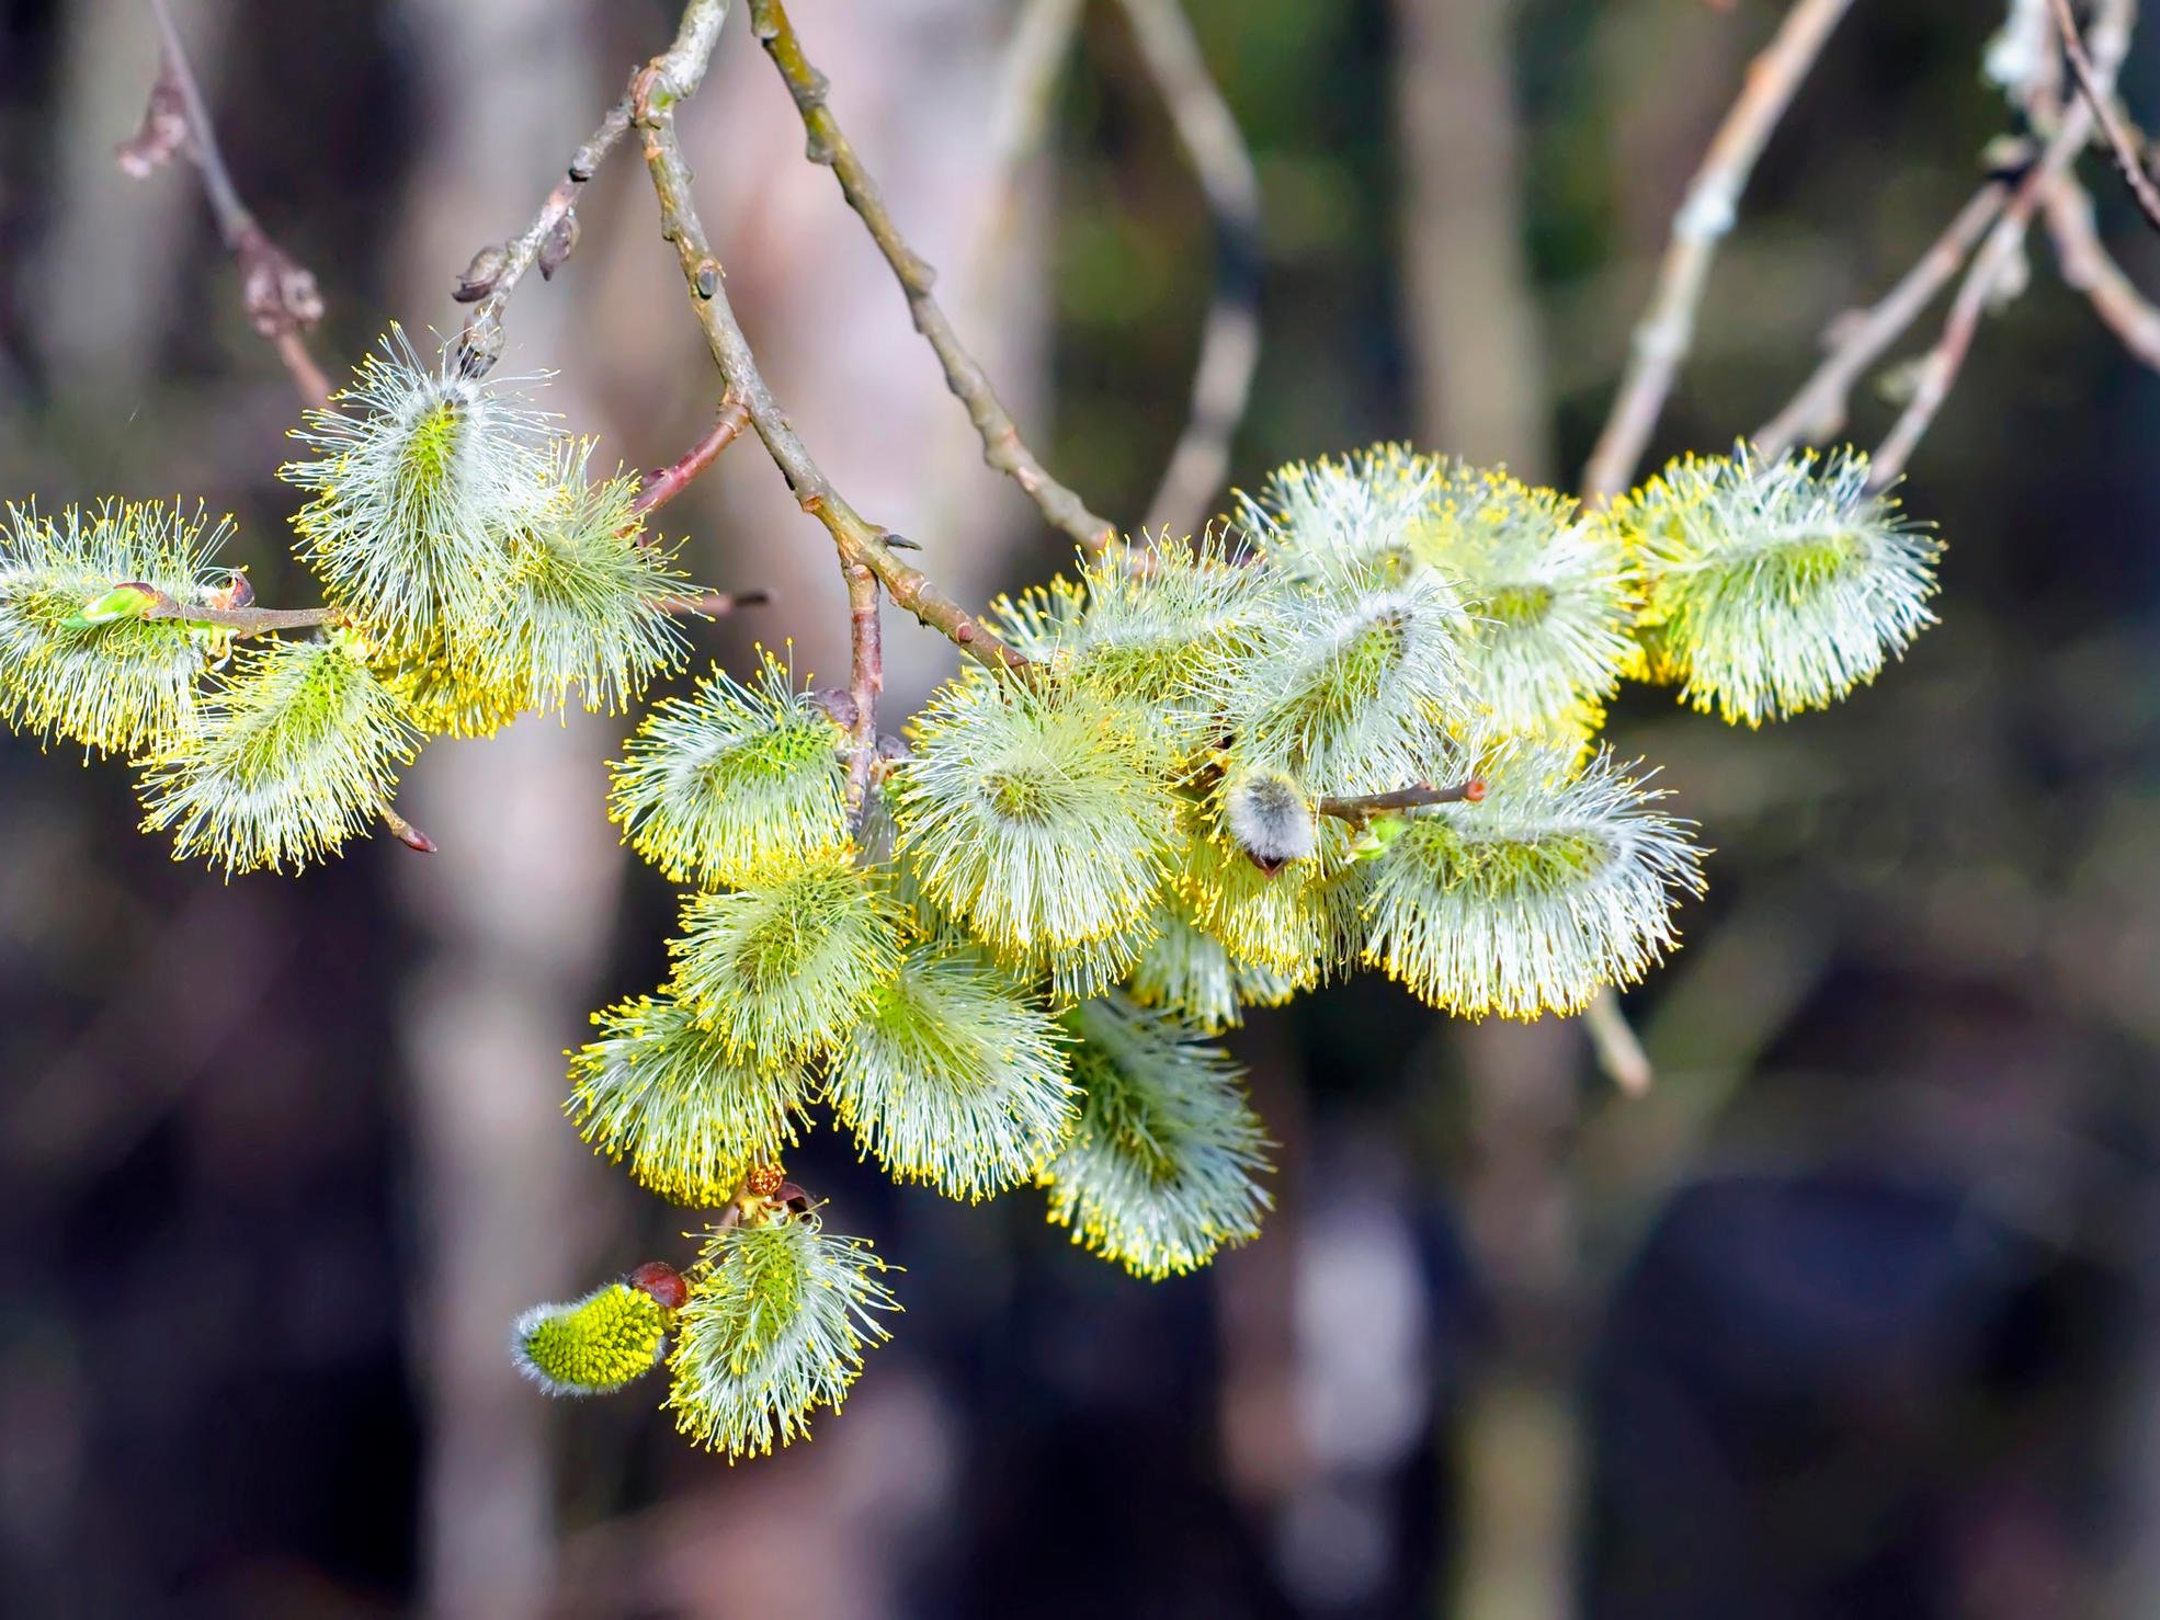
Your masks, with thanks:
[(1711, 149), (1672, 216), (1672, 244), (1657, 272), (1650, 309), (1635, 328), (1633, 354), (1605, 432), (1583, 469), (1583, 497), (1609, 501), (1624, 490), (1650, 445), (1672, 380), (1696, 339), (1696, 309), (1711, 276), (1717, 244), (1732, 229), (1734, 210), (1756, 158), (1793, 93), (1814, 65), (1832, 28), (1853, 0), (1795, 0), (1776, 39), (1747, 65), (1745, 89), (1719, 125)]

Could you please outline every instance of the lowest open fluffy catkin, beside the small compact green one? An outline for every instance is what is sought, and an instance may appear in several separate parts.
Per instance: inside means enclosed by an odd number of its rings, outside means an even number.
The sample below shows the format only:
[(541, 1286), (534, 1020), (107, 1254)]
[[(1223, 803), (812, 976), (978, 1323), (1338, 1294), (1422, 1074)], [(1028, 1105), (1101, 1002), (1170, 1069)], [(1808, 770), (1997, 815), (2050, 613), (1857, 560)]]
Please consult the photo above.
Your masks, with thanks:
[(689, 1274), (667, 1354), (667, 1408), (698, 1445), (762, 1456), (838, 1410), (862, 1352), (892, 1337), (879, 1313), (899, 1302), (862, 1238), (814, 1214), (715, 1227)]

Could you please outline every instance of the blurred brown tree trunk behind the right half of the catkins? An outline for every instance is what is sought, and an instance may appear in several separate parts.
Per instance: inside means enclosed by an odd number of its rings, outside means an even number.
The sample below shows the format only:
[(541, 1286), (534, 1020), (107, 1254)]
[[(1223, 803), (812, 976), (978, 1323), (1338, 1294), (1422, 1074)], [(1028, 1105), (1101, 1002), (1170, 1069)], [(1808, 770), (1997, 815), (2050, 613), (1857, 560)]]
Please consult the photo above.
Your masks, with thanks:
[[(1551, 400), (1523, 244), (1514, 0), (1398, 0), (1402, 279), (1419, 441), (1551, 475)], [(1464, 1028), (1467, 1238), (1493, 1331), (1464, 1380), (1454, 1467), (1462, 1540), (1447, 1614), (1575, 1609), (1583, 1439), (1566, 1173), (1581, 1043), (1562, 1020)]]

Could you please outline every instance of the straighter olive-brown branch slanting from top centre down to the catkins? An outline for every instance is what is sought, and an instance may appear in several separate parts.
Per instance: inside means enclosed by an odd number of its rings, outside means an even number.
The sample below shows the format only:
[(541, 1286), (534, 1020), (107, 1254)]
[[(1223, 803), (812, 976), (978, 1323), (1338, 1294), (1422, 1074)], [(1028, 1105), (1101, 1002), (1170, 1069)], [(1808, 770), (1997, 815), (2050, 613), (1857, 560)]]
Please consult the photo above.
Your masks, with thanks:
[[(892, 220), (892, 212), (886, 207), (883, 192), (877, 190), (870, 171), (862, 166), (855, 149), (840, 132), (838, 119), (834, 119), (832, 108), (825, 104), (827, 80), (804, 56), (786, 9), (780, 0), (750, 0), (750, 26), (762, 41), (765, 54), (780, 69), (780, 78), (786, 80), (788, 95), (795, 97), (795, 110), (801, 112), (804, 130), (810, 134), (810, 162), (832, 168), (840, 181), (840, 194), (847, 197), (847, 205), (862, 216), (864, 227), (877, 242), (877, 251), (892, 266), (901, 292), (907, 296), (907, 311), (914, 315), (916, 330), (929, 339), (937, 363), (944, 367), (946, 387), (968, 406), (968, 419), (983, 441), (983, 460), (1020, 484), (1043, 518), (1069, 534), (1086, 551), (1099, 553), (1110, 549), (1117, 542), (1117, 527), (1108, 518), (1089, 512), (1078, 495), (1043, 469), (1035, 451), (1022, 441), (1020, 426), (1011, 413), (998, 402), (989, 376), (959, 341), (950, 318), (931, 294), (937, 272), (907, 246), (899, 225)], [(890, 581), (886, 583), (890, 590)], [(901, 600), (899, 592), (894, 592), (894, 600)]]

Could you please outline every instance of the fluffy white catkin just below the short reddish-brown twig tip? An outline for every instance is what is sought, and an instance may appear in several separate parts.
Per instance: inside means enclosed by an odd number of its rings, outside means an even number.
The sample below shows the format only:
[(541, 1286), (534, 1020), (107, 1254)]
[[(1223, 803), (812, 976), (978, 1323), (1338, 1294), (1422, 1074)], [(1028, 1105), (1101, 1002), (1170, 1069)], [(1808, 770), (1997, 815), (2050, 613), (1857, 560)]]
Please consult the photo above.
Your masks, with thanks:
[(1365, 959), (1449, 1013), (1579, 1013), (1678, 942), (1702, 851), (1609, 754), (1521, 747), (1477, 804), (1410, 816), (1372, 862)]

